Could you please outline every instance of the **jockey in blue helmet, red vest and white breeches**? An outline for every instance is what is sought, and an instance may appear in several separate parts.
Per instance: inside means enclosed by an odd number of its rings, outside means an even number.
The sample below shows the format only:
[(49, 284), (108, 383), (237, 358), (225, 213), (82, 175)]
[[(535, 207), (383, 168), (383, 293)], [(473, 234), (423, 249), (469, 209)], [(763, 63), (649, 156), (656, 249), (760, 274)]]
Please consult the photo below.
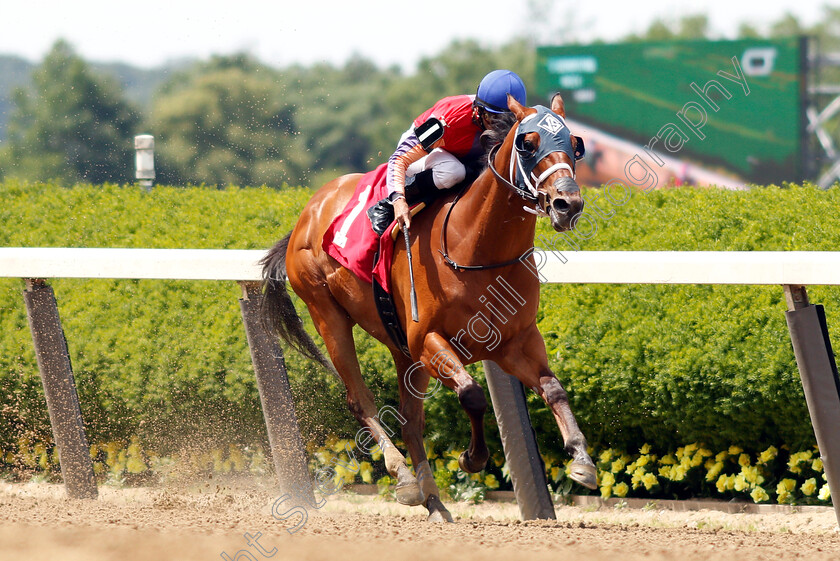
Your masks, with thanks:
[(445, 97), (414, 120), (388, 159), (388, 197), (401, 226), (411, 224), (406, 189), (413, 195), (464, 180), (464, 162), (483, 155), (481, 133), (494, 115), (510, 112), (508, 94), (526, 104), (522, 79), (510, 70), (494, 70), (481, 80), (476, 95)]

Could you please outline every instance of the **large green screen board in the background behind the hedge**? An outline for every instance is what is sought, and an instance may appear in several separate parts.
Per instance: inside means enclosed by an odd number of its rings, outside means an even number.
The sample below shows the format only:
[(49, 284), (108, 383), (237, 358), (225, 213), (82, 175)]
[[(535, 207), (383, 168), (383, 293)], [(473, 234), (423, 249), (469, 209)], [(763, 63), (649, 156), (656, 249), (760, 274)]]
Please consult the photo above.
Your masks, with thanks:
[[(801, 181), (804, 38), (537, 48), (571, 119), (755, 183)], [(670, 152), (670, 154), (669, 154)]]

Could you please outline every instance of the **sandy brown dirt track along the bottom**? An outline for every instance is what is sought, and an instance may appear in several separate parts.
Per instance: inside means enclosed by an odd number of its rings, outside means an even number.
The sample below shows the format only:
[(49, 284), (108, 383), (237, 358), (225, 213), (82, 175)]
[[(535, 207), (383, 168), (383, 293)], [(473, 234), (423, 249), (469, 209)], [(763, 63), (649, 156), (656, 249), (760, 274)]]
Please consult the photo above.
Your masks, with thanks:
[(562, 507), (557, 521), (519, 522), (512, 504), (449, 504), (454, 525), (370, 497), (331, 497), (294, 535), (271, 516), (266, 486), (189, 491), (102, 487), (97, 501), (71, 501), (55, 485), (0, 483), (0, 558), (12, 560), (231, 559), (249, 550), (272, 559), (680, 561), (840, 559), (828, 509), (783, 514), (676, 513)]

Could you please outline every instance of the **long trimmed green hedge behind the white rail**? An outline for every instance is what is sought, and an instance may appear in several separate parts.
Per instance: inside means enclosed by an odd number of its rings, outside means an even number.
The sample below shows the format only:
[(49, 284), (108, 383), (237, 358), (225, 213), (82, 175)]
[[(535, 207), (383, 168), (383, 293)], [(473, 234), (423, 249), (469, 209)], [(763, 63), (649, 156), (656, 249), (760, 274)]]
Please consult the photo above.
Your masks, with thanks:
[[(0, 184), (0, 246), (267, 248), (291, 229), (309, 195), (7, 182)], [(598, 231), (581, 244), (587, 250), (833, 250), (840, 239), (837, 189), (636, 191), (622, 206), (596, 204), (614, 214), (596, 218)], [(540, 233), (553, 234), (545, 223)], [(234, 283), (50, 284), (91, 441), (139, 435), (165, 449), (264, 438)], [(3, 447), (21, 437), (49, 439), (22, 288), (18, 279), (0, 279)], [(829, 328), (837, 325), (840, 291), (813, 287), (810, 294), (826, 305)], [(800, 449), (813, 434), (784, 309), (781, 287), (553, 285), (543, 288), (538, 319), (552, 368), (599, 448)], [(357, 339), (378, 403), (395, 404), (387, 352), (361, 333)], [(351, 437), (357, 427), (340, 384), (292, 353), (287, 363), (304, 438)], [(553, 418), (530, 399), (543, 450), (558, 453)], [(451, 392), (427, 403), (427, 435), (442, 448), (465, 445), (468, 427)]]

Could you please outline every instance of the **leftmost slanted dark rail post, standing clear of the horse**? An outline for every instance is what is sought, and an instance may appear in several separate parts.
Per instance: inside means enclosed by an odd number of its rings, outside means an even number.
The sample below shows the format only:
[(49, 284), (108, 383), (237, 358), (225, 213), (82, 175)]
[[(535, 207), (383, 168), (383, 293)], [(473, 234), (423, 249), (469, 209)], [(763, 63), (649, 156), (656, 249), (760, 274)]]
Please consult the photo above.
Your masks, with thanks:
[(43, 280), (26, 279), (23, 299), (67, 496), (95, 499), (99, 491), (55, 294)]

